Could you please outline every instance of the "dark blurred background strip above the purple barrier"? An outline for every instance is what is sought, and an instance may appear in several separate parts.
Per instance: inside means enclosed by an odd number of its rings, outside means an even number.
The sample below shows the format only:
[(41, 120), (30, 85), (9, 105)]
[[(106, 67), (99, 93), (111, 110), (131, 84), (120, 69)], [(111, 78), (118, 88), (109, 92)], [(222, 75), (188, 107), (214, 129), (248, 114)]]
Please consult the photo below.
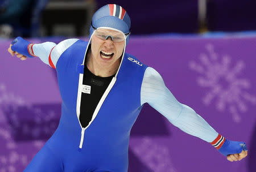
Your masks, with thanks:
[(107, 3), (126, 8), (133, 35), (256, 29), (253, 0), (1, 0), (1, 35), (86, 36), (94, 11)]

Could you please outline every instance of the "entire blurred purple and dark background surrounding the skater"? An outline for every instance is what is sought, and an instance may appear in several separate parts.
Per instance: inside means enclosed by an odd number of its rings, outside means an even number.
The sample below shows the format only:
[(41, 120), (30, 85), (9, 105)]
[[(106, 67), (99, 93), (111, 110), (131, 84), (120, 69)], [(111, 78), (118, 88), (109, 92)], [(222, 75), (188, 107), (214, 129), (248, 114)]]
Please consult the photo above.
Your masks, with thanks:
[(11, 57), (10, 42), (87, 40), (94, 11), (107, 3), (130, 15), (127, 52), (158, 70), (177, 100), (217, 132), (249, 149), (245, 160), (229, 162), (145, 105), (131, 130), (129, 172), (256, 171), (256, 1), (0, 0), (0, 172), (22, 171), (61, 113), (55, 70)]

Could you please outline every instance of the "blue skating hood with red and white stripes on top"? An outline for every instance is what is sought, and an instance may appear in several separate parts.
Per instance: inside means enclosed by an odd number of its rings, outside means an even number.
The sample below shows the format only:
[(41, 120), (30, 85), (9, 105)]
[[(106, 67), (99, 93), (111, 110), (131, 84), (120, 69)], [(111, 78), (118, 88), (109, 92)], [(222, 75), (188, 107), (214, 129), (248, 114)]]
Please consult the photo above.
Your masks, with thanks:
[(94, 29), (99, 27), (109, 27), (118, 29), (127, 35), (126, 45), (129, 42), (131, 20), (126, 10), (115, 4), (108, 4), (98, 9), (92, 18), (90, 26), (90, 36)]

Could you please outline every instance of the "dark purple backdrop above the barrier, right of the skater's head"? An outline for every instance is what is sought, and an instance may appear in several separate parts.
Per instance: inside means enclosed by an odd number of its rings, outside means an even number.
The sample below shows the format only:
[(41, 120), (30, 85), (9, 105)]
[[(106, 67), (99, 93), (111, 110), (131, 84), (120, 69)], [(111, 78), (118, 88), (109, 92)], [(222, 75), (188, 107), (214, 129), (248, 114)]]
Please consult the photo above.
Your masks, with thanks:
[[(200, 30), (198, 2), (191, 0), (120, 1), (96, 0), (97, 8), (116, 3), (125, 8), (131, 18), (131, 33), (197, 33)], [(254, 0), (207, 1), (208, 31), (255, 31)]]

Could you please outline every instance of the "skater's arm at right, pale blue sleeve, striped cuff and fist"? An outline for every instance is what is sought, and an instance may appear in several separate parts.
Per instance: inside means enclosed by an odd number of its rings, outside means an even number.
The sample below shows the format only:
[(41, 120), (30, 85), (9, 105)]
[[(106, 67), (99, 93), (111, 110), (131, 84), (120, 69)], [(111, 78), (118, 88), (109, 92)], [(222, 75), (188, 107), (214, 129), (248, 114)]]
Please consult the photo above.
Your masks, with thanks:
[(174, 126), (212, 144), (220, 153), (227, 156), (229, 161), (241, 160), (247, 155), (244, 143), (225, 139), (192, 108), (180, 104), (166, 87), (160, 74), (151, 67), (146, 69), (142, 81), (141, 104), (146, 102)]

